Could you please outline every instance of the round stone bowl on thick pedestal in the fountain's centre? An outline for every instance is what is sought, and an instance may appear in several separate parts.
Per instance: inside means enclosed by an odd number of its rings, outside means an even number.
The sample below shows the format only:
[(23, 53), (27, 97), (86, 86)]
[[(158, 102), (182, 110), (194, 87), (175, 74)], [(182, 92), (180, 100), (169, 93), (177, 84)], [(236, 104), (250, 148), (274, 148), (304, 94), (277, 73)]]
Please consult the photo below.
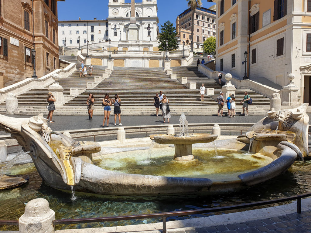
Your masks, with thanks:
[(208, 133), (187, 134), (185, 136), (178, 134), (152, 134), (149, 137), (159, 144), (174, 144), (174, 160), (190, 161), (194, 159), (192, 144), (212, 142), (218, 135)]

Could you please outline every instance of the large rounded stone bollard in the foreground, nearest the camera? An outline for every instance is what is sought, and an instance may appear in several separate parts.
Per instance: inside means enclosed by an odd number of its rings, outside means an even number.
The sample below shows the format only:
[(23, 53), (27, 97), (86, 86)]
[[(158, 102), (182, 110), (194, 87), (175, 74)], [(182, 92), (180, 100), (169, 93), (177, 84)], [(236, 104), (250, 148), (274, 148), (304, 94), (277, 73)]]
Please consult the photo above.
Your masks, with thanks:
[(18, 220), (19, 232), (54, 233), (54, 219), (55, 212), (46, 199), (33, 199), (26, 204), (25, 213)]

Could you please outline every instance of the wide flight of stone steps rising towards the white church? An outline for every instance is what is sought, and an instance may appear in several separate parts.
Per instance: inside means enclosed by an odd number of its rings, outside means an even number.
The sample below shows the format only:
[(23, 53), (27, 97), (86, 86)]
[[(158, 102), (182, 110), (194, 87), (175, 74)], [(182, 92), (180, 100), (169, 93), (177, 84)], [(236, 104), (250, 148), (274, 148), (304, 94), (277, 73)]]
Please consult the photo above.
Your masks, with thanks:
[[(77, 70), (72, 72), (67, 77), (61, 77), (58, 83), (63, 87), (64, 94), (70, 93), (71, 87), (78, 87), (86, 89), (86, 82), (94, 81), (95, 76), (102, 76), (105, 72), (106, 66), (93, 65), (93, 74), (89, 76), (89, 71), (86, 77), (79, 77), (78, 68), (81, 63), (74, 56), (59, 56), (68, 62), (76, 62)], [(87, 66), (88, 67), (88, 66)], [(75, 115), (81, 114), (81, 111), (86, 112), (86, 99), (89, 93), (95, 96), (95, 109), (101, 109), (102, 98), (105, 93), (110, 94), (110, 98), (114, 98), (114, 94), (118, 94), (122, 102), (123, 114), (131, 115), (133, 109), (138, 111), (137, 114), (146, 115), (154, 112), (153, 97), (156, 92), (163, 91), (170, 101), (172, 109), (175, 113), (188, 112), (188, 114), (206, 114), (209, 111), (214, 111), (217, 107), (216, 101), (210, 97), (205, 96), (204, 102), (200, 101), (199, 88), (204, 83), (206, 88), (215, 88), (215, 94), (218, 94), (221, 86), (225, 83), (219, 84), (218, 80), (210, 79), (196, 67), (196, 62), (193, 62), (187, 67), (171, 67), (177, 77), (186, 76), (188, 82), (196, 82), (197, 89), (188, 89), (186, 85), (181, 84), (176, 79), (170, 79), (163, 68), (130, 68), (130, 67), (114, 67), (111, 75), (105, 78), (100, 84), (93, 89), (86, 89), (78, 96), (72, 98), (65, 103), (61, 113), (55, 111), (54, 114)], [(17, 96), (20, 114), (33, 114), (37, 112), (46, 111), (46, 95), (49, 86), (40, 89), (30, 89)], [(237, 101), (244, 97), (244, 90), (236, 89), (235, 96)], [(254, 91), (247, 90), (254, 99), (253, 103), (256, 105), (269, 105), (269, 98), (262, 96)], [(259, 101), (258, 101), (259, 100)], [(256, 103), (257, 102), (257, 103)], [(0, 107), (3, 110), (5, 103), (1, 103)], [(186, 107), (185, 107), (186, 106)], [(194, 111), (193, 108), (196, 110)], [(237, 105), (237, 108), (239, 106)], [(60, 109), (60, 107), (58, 107)], [(128, 110), (126, 110), (128, 109)], [(63, 111), (64, 110), (64, 111)], [(174, 111), (173, 110), (173, 111)], [(238, 109), (237, 109), (238, 110)], [(262, 111), (263, 109), (261, 109)], [(68, 111), (68, 112), (66, 112)], [(255, 111), (255, 110), (254, 110)], [(171, 111), (172, 112), (172, 111)], [(194, 113), (195, 112), (195, 113)]]

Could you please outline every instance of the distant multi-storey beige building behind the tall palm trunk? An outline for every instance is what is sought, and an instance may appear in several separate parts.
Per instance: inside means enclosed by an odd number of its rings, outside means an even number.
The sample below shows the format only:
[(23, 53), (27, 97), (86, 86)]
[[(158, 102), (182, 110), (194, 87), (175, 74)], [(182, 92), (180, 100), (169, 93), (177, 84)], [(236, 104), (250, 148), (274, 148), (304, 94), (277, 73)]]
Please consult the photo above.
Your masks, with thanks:
[[(194, 12), (194, 43), (193, 49), (202, 50), (203, 42), (211, 36), (216, 37), (216, 11), (210, 8), (197, 7)], [(192, 11), (185, 10), (176, 18), (176, 32), (180, 38), (180, 44), (191, 44)]]

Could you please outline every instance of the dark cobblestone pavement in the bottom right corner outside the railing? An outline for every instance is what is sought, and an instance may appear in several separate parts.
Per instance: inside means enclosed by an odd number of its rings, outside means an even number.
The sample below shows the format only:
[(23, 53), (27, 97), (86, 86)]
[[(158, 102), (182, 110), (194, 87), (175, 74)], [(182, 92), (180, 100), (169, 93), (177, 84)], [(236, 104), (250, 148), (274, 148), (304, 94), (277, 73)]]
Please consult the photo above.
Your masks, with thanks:
[(195, 228), (186, 231), (174, 231), (174, 233), (256, 233), (256, 232), (275, 232), (275, 233), (307, 233), (311, 232), (311, 211), (304, 211), (301, 214), (292, 213), (280, 217), (271, 217), (249, 222), (227, 224), (220, 226), (210, 226)]

